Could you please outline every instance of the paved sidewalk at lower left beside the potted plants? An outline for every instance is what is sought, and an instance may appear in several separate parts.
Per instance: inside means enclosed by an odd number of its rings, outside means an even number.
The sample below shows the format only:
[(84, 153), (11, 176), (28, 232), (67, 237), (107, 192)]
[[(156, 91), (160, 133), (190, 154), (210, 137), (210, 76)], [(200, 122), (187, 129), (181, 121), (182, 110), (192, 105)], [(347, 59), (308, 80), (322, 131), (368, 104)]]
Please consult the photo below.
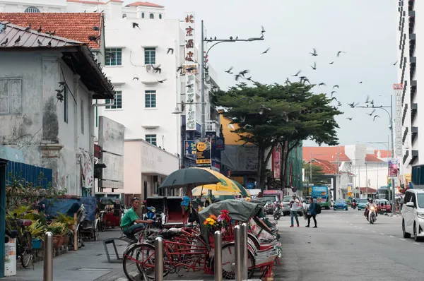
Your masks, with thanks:
[[(120, 230), (107, 229), (100, 232), (98, 241), (85, 241), (86, 246), (78, 251), (69, 251), (68, 253), (53, 259), (53, 280), (54, 281), (93, 281), (108, 280), (98, 279), (99, 277), (110, 275), (112, 272), (121, 272), (122, 263), (107, 263), (105, 249), (102, 241), (110, 237), (119, 237)], [(119, 253), (123, 253), (126, 248), (124, 242), (117, 242)], [(112, 246), (111, 246), (112, 247)], [(112, 250), (113, 251), (113, 250)], [(34, 264), (34, 270), (31, 266), (28, 269), (19, 269), (16, 276), (0, 278), (0, 281), (21, 280), (21, 281), (42, 281), (43, 280), (43, 262)], [(126, 279), (124, 279), (126, 280)]]

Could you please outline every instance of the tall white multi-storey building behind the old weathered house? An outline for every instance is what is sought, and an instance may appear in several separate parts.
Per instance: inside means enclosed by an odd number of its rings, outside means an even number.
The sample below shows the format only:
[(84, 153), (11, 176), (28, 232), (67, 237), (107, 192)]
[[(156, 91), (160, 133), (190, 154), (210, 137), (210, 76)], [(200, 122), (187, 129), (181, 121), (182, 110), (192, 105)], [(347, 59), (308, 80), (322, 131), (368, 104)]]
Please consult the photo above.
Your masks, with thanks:
[[(143, 170), (131, 173), (124, 172), (124, 191), (140, 193), (141, 196), (156, 193), (155, 186), (160, 184), (170, 170), (179, 168), (182, 157), (182, 140), (190, 136), (194, 139), (200, 134), (201, 125), (201, 80), (195, 75), (195, 95), (192, 107), (195, 108), (196, 126), (192, 133), (187, 133), (185, 115), (190, 107), (187, 104), (187, 87), (179, 66), (186, 64), (186, 23), (184, 18), (165, 19), (165, 8), (149, 2), (135, 2), (123, 6), (122, 1), (80, 1), (80, 0), (34, 0), (16, 1), (0, 0), (0, 11), (4, 12), (102, 12), (105, 17), (105, 67), (103, 70), (112, 80), (116, 95), (114, 100), (107, 100), (110, 105), (96, 107), (95, 126), (98, 126), (98, 116), (103, 115), (125, 126), (125, 160), (124, 169), (128, 171), (138, 167), (129, 161), (129, 156), (136, 153), (136, 159), (142, 159), (139, 148), (145, 145), (143, 140), (157, 146), (162, 151), (162, 158), (173, 155), (167, 164), (174, 163), (171, 168), (158, 165), (157, 171), (150, 171), (143, 176)], [(136, 23), (136, 25), (134, 25)], [(195, 27), (195, 23), (193, 27)], [(199, 33), (198, 33), (199, 35)], [(194, 33), (194, 38), (196, 38)], [(171, 50), (172, 49), (172, 50)], [(192, 64), (200, 72), (201, 54), (194, 40)], [(199, 61), (199, 62), (198, 62)], [(158, 71), (158, 67), (160, 71)], [(194, 71), (194, 73), (196, 72)], [(219, 120), (211, 112), (208, 92), (216, 86), (216, 72), (208, 65), (206, 84), (206, 131), (216, 131), (219, 134)], [(163, 81), (160, 83), (159, 81)], [(184, 106), (182, 105), (184, 103)], [(182, 109), (183, 114), (172, 114), (175, 108)], [(212, 109), (213, 110), (213, 109)], [(210, 120), (213, 119), (213, 120)], [(96, 131), (97, 136), (97, 131)], [(134, 145), (134, 142), (138, 142)], [(127, 148), (128, 147), (128, 148)], [(128, 158), (127, 158), (128, 157)], [(136, 160), (135, 159), (135, 160)], [(135, 161), (134, 160), (134, 161)], [(176, 161), (175, 161), (176, 160)], [(133, 165), (134, 164), (134, 165)], [(139, 179), (143, 179), (139, 185)], [(146, 184), (148, 186), (147, 193)], [(139, 192), (137, 192), (139, 191)], [(143, 191), (143, 192), (141, 192)]]

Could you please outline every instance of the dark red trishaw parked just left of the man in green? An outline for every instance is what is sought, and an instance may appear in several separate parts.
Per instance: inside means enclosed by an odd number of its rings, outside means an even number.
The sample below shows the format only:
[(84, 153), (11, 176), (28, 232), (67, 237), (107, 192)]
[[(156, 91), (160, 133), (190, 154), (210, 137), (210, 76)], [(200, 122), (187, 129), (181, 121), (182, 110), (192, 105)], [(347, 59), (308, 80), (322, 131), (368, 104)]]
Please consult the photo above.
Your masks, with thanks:
[(110, 197), (103, 197), (98, 200), (100, 208), (104, 206), (104, 210), (100, 210), (100, 230), (104, 232), (108, 227), (119, 227), (122, 218), (121, 201)]

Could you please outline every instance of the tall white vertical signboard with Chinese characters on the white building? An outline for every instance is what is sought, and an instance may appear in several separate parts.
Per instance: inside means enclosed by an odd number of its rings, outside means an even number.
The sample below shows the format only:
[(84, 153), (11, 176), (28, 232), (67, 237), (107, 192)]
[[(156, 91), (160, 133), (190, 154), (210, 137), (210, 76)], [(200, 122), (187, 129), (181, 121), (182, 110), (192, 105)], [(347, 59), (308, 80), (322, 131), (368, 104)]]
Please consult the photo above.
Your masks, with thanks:
[(196, 85), (197, 66), (195, 54), (195, 20), (194, 13), (185, 14), (185, 54), (184, 54), (184, 73), (186, 76), (186, 130), (196, 130)]

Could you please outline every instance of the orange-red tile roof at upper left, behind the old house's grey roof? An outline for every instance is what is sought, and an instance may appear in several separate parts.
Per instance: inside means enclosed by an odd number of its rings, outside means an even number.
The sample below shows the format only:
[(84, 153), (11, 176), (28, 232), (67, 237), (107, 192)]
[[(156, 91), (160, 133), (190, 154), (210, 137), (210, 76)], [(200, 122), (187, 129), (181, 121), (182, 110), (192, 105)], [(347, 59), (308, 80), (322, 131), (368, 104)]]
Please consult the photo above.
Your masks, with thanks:
[[(102, 32), (102, 13), (0, 13), (0, 21), (8, 21), (14, 25), (33, 30), (42, 27), (42, 32), (54, 32), (59, 37), (68, 38), (88, 44), (94, 49), (100, 48), (98, 43), (88, 40), (89, 36), (99, 37)], [(98, 27), (100, 30), (93, 30)]]

